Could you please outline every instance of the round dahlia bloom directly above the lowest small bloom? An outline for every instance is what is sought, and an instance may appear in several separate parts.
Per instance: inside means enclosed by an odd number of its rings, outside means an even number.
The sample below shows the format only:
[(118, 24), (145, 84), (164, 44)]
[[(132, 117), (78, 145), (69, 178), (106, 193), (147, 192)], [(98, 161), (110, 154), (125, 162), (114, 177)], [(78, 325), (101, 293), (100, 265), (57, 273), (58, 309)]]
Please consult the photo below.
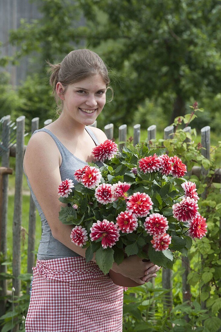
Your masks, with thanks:
[(147, 233), (154, 236), (166, 233), (169, 227), (166, 217), (160, 213), (150, 214), (149, 217), (145, 219), (144, 226)]

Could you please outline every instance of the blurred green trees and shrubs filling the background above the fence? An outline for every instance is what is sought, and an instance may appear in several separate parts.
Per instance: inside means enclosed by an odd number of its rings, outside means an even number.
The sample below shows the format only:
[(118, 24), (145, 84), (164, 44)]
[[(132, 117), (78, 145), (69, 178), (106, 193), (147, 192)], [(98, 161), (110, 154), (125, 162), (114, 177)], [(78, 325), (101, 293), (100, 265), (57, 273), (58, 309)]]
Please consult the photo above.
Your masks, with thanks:
[[(72, 49), (97, 52), (110, 71), (114, 100), (98, 127), (157, 124), (162, 131), (195, 100), (204, 113), (192, 123), (221, 130), (221, 3), (217, 0), (35, 0), (38, 19), (21, 19), (2, 55), (0, 117), (56, 118), (46, 59), (59, 62)], [(2, 45), (2, 47), (4, 44)], [(3, 49), (3, 48), (2, 48)], [(3, 54), (3, 53), (2, 53)], [(10, 85), (5, 69), (28, 58), (26, 78)], [(5, 68), (5, 69), (4, 69)]]

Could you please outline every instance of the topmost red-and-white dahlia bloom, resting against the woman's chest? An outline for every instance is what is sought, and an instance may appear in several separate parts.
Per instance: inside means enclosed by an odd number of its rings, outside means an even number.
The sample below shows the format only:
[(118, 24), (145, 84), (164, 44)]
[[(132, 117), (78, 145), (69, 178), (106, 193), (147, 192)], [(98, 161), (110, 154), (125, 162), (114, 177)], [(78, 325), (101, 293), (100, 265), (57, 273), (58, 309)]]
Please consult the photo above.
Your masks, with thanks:
[(106, 139), (106, 141), (92, 149), (92, 154), (96, 160), (103, 162), (105, 159), (111, 159), (114, 154), (117, 154), (117, 151), (117, 144), (110, 139)]

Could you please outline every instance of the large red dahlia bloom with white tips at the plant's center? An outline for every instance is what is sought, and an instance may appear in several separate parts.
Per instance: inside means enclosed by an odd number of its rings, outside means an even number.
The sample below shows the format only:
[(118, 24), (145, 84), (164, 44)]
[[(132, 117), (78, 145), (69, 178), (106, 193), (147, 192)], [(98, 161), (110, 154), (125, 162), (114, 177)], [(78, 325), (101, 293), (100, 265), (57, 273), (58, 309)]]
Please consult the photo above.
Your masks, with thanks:
[(136, 216), (146, 217), (152, 209), (153, 202), (149, 195), (145, 193), (135, 193), (128, 198), (127, 210), (133, 212)]

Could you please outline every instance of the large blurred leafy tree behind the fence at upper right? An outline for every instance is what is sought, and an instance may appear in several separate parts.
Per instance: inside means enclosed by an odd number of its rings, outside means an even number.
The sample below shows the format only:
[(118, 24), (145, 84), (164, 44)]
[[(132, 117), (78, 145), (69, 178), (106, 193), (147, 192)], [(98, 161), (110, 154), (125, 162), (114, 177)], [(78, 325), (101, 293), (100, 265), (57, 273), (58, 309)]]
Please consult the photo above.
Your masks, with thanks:
[[(171, 123), (185, 113), (190, 97), (220, 91), (220, 1), (80, 2), (89, 47), (101, 45), (109, 66), (123, 77), (114, 105), (122, 118), (128, 121), (138, 103), (154, 97), (164, 101)], [(96, 8), (103, 13), (97, 18)]]

